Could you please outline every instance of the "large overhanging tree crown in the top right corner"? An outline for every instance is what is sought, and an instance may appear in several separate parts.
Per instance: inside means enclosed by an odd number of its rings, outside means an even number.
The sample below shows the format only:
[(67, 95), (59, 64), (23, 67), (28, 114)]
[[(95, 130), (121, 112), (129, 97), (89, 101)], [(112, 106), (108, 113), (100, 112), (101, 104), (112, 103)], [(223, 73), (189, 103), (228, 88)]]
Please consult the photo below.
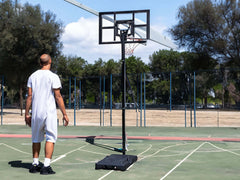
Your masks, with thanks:
[(240, 2), (193, 0), (178, 12), (171, 34), (179, 46), (240, 67)]

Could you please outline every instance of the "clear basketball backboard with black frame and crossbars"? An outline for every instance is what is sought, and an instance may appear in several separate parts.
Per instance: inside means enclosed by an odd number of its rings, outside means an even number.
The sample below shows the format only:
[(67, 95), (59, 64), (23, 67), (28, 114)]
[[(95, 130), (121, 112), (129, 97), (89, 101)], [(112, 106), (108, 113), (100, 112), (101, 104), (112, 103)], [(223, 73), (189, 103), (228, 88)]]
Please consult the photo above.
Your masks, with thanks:
[(99, 13), (99, 44), (120, 44), (120, 31), (127, 30), (125, 43), (146, 43), (150, 38), (150, 10)]

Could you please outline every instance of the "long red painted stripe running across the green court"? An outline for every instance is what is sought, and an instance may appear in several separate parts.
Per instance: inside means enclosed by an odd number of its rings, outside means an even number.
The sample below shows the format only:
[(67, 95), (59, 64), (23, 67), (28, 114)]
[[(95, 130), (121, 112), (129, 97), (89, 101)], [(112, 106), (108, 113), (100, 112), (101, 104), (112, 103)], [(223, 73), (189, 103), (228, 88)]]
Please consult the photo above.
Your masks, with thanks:
[[(0, 138), (31, 138), (31, 134), (0, 134)], [(121, 136), (76, 136), (60, 135), (60, 139), (93, 138), (93, 139), (116, 139), (121, 140)], [(240, 142), (240, 138), (214, 138), (214, 137), (166, 137), (166, 136), (127, 136), (129, 140), (158, 140), (158, 141), (222, 141)]]

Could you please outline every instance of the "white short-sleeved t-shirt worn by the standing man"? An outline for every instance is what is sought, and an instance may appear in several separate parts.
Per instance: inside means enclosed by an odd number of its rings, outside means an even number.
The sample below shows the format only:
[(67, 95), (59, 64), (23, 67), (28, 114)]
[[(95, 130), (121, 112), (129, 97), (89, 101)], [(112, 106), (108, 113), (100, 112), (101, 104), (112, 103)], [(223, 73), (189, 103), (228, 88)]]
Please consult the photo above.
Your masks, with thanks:
[(57, 74), (50, 70), (37, 70), (28, 79), (27, 86), (32, 88), (32, 119), (46, 119), (56, 114), (53, 89), (61, 88)]

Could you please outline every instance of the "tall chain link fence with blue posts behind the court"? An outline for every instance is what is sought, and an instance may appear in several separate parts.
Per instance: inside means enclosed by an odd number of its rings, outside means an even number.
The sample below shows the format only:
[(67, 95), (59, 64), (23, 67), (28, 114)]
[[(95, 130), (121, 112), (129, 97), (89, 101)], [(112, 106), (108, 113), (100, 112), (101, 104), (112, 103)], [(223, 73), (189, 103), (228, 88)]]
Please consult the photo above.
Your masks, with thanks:
[[(240, 127), (239, 76), (234, 69), (128, 74), (126, 125)], [(1, 77), (1, 124), (23, 124), (19, 94)], [(61, 81), (71, 125), (121, 126), (121, 75)]]

